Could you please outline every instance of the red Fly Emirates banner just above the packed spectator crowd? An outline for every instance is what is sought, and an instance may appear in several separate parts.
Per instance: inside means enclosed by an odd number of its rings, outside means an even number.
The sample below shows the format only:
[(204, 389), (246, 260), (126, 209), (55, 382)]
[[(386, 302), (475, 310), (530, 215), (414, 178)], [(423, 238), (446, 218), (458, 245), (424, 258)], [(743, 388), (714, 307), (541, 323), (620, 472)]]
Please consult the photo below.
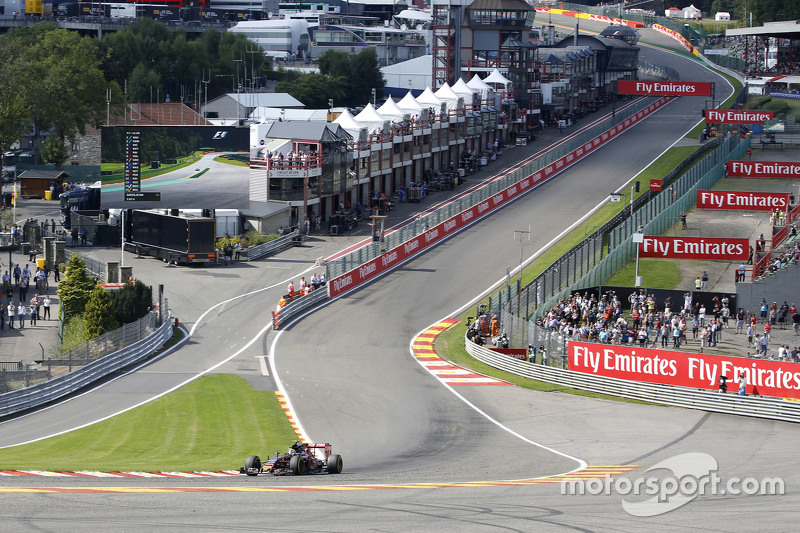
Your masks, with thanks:
[(747, 239), (660, 236), (645, 237), (639, 243), (639, 257), (746, 261), (749, 253)]

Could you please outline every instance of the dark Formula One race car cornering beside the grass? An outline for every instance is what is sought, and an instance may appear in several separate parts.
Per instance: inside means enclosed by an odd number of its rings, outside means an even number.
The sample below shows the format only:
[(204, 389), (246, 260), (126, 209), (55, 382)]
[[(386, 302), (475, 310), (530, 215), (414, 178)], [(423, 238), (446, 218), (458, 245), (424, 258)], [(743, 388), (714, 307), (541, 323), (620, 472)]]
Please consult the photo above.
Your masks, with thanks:
[(276, 453), (267, 462), (262, 463), (257, 455), (250, 455), (239, 469), (240, 474), (257, 476), (272, 473), (274, 476), (285, 474), (341, 474), (342, 457), (331, 453), (331, 445), (312, 444), (295, 441), (286, 453)]

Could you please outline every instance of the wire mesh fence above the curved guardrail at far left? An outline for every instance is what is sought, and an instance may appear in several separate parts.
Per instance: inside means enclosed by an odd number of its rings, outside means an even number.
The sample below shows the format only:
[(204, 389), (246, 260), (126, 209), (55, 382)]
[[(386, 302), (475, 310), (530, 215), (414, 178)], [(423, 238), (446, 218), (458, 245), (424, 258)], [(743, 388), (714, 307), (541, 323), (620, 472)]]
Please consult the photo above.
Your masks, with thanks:
[(0, 393), (29, 387), (62, 376), (126, 346), (138, 342), (158, 329), (169, 317), (164, 299), (160, 306), (136, 322), (108, 331), (71, 350), (62, 351), (60, 344), (47, 349), (49, 357), (35, 364), (11, 363), (0, 366)]

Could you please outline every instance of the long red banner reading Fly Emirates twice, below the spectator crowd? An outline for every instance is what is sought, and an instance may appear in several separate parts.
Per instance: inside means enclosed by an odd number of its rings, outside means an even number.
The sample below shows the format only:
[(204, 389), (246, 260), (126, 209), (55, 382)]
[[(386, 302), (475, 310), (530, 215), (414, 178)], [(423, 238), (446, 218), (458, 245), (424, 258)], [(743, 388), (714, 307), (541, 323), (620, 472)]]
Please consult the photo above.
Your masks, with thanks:
[[(800, 398), (797, 363), (572, 341), (569, 369), (595, 376), (710, 390), (719, 388), (719, 376), (733, 381), (744, 374), (747, 394)], [(738, 388), (735, 383), (731, 386)]]

